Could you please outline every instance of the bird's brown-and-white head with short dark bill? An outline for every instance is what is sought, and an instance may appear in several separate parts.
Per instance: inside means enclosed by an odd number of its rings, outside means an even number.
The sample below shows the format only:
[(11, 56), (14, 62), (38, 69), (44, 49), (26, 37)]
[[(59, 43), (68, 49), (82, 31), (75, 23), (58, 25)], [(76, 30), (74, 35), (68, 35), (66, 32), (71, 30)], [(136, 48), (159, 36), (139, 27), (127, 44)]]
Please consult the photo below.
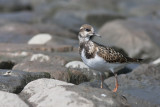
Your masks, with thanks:
[(89, 41), (94, 36), (100, 37), (99, 34), (94, 32), (94, 28), (91, 25), (84, 24), (80, 27), (78, 38), (80, 41)]

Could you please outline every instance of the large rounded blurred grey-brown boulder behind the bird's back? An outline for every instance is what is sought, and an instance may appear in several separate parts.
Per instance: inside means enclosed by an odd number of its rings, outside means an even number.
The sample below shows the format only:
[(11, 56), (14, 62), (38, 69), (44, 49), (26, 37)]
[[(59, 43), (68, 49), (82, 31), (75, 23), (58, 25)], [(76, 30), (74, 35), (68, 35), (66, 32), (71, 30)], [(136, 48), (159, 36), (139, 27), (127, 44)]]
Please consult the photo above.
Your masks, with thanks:
[[(95, 41), (104, 45), (120, 47), (130, 57), (154, 59), (159, 57), (159, 21), (138, 19), (117, 20), (106, 23), (99, 31), (102, 38)], [(127, 44), (127, 45), (126, 45)]]

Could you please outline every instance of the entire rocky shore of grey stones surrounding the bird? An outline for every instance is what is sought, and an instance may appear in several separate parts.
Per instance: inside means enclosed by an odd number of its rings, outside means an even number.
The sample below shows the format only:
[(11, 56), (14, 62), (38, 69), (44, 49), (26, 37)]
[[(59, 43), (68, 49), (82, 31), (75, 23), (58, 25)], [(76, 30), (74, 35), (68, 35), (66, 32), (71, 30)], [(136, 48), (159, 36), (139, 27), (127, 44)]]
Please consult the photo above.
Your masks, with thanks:
[[(100, 74), (80, 59), (77, 34), (91, 24), (130, 57)], [(159, 107), (159, 0), (0, 0), (0, 107)]]

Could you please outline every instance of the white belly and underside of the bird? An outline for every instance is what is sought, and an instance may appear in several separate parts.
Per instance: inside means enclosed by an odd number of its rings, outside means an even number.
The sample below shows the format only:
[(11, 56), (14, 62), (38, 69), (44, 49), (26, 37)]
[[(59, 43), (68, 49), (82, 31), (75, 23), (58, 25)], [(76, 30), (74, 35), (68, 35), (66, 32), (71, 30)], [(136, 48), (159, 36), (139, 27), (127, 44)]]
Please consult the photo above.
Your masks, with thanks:
[(107, 63), (103, 58), (98, 55), (95, 55), (94, 58), (87, 59), (84, 53), (84, 49), (81, 53), (81, 59), (87, 66), (100, 72), (106, 72), (109, 70), (115, 72), (116, 70), (124, 67), (124, 64), (120, 63)]

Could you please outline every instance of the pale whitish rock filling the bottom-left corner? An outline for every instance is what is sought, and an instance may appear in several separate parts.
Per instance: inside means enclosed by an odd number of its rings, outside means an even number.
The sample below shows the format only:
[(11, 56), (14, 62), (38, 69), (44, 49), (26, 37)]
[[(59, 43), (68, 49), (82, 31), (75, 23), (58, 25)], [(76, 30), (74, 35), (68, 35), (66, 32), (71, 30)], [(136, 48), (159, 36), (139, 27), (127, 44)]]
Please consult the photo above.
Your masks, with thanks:
[(1, 107), (29, 107), (18, 95), (0, 91)]

